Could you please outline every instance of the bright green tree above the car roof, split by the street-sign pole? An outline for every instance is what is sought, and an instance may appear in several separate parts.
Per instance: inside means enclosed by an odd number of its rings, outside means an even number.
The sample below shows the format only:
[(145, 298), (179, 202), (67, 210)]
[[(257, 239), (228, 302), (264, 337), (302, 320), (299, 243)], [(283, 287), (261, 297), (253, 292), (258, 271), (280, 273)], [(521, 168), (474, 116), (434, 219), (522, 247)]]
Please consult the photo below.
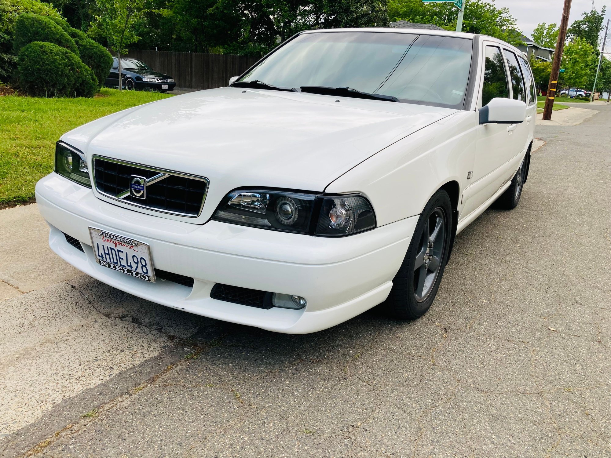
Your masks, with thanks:
[[(405, 20), (414, 23), (436, 24), (447, 30), (456, 28), (458, 9), (449, 3), (423, 3), (422, 0), (389, 0), (388, 15), (391, 21)], [(510, 43), (521, 43), (512, 30), (517, 30), (516, 20), (509, 9), (497, 8), (494, 0), (467, 0), (463, 18), (463, 32), (485, 34)]]

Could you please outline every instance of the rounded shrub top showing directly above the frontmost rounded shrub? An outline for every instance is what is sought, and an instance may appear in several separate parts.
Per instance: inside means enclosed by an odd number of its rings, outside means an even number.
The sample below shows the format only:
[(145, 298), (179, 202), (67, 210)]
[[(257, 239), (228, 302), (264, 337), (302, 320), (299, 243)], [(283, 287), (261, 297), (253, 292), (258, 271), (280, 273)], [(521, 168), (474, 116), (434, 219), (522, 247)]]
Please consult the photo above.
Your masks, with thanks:
[(75, 41), (54, 21), (37, 14), (25, 13), (17, 18), (13, 51), (19, 54), (21, 48), (32, 42), (54, 43), (79, 55)]

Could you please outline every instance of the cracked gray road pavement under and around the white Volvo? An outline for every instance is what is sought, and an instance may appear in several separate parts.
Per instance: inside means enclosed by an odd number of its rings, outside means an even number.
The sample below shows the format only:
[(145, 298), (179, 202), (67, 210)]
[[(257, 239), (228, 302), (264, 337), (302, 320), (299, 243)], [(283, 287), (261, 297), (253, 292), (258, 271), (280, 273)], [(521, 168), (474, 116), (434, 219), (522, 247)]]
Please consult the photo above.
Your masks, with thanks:
[[(31, 291), (0, 282), (0, 456), (611, 456), (611, 107), (596, 109), (537, 128), (518, 208), (459, 234), (417, 321), (274, 334), (136, 299), (41, 248)], [(0, 278), (21, 278), (20, 231), (2, 227)]]

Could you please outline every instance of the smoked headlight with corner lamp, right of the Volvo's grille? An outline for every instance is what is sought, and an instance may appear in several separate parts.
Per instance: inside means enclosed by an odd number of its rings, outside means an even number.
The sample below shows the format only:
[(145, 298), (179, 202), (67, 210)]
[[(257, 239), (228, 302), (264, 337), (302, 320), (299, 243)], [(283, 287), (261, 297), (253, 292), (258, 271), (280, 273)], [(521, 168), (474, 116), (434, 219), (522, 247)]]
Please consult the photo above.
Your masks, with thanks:
[(345, 236), (376, 227), (373, 208), (362, 195), (325, 195), (271, 189), (230, 192), (212, 219), (326, 237)]

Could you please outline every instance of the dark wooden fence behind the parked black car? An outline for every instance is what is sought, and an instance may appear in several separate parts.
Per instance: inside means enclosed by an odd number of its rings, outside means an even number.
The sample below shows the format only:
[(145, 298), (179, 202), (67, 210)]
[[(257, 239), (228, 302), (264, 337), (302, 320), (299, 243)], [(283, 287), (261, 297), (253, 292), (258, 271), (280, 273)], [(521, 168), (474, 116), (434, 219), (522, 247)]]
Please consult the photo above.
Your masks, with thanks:
[(229, 84), (229, 78), (241, 75), (258, 60), (255, 57), (233, 54), (175, 53), (142, 49), (134, 49), (125, 57), (142, 60), (153, 70), (172, 76), (176, 87), (189, 89), (226, 86)]

